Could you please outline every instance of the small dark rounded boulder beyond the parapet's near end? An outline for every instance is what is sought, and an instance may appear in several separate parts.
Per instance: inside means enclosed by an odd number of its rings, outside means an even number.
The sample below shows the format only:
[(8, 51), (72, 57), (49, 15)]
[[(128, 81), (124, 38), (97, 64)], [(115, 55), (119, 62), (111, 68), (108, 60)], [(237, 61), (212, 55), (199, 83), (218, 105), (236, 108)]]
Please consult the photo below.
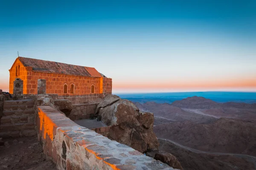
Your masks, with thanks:
[(169, 166), (175, 169), (183, 170), (178, 159), (171, 153), (161, 151), (160, 153), (155, 154), (154, 159), (159, 160), (165, 164), (168, 164)]

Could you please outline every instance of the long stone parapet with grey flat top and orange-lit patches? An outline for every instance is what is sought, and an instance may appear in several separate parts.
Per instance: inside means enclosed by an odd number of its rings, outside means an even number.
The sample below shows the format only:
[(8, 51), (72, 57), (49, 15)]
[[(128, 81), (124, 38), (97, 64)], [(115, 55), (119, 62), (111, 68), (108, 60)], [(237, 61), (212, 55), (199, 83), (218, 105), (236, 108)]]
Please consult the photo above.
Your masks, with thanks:
[(71, 121), (49, 106), (38, 107), (38, 138), (60, 170), (173, 170)]

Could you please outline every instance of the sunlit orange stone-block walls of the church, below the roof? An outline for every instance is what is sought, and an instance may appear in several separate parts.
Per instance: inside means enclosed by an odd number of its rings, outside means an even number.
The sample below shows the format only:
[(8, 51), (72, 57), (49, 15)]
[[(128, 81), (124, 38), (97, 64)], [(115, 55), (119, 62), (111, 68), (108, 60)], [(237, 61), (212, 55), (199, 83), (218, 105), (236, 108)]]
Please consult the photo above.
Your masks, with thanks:
[[(20, 67), (20, 73), (17, 74), (17, 69)], [(87, 67), (86, 67), (87, 68)], [(87, 68), (91, 74), (96, 75), (98, 72), (95, 68)], [(94, 86), (94, 94), (106, 94), (112, 93), (112, 84), (104, 83), (103, 80), (112, 83), (111, 78), (103, 77), (85, 77), (85, 76), (75, 76), (67, 74), (56, 74), (35, 71), (32, 67), (24, 67), (17, 58), (9, 70), (10, 80), (9, 80), (9, 93), (13, 94), (13, 82), (16, 78), (23, 80), (23, 94), (37, 94), (37, 83), (38, 79), (46, 79), (46, 93), (47, 94), (58, 94), (65, 96), (64, 85), (67, 85), (67, 94), (71, 96), (78, 95), (88, 95), (91, 94), (91, 87)], [(96, 75), (101, 76), (101, 75)], [(108, 87), (103, 87), (108, 85)], [(73, 88), (71, 88), (73, 87)]]

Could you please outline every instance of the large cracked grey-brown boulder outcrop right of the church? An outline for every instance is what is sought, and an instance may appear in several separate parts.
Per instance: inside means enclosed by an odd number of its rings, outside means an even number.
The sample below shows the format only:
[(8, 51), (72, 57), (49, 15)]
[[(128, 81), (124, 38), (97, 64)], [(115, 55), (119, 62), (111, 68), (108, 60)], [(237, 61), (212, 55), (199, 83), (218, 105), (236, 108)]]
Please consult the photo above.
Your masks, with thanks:
[[(110, 96), (98, 105), (102, 122), (111, 126), (109, 138), (145, 153), (158, 149), (157, 137), (153, 132), (153, 113), (142, 113), (129, 100)], [(105, 106), (105, 107), (104, 107)]]

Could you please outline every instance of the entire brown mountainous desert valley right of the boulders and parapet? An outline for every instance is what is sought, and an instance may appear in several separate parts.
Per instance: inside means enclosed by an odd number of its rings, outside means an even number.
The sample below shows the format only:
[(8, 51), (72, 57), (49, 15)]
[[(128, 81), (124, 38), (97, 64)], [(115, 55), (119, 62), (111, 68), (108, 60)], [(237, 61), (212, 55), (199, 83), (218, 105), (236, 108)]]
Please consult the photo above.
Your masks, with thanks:
[(256, 170), (256, 104), (188, 97), (134, 104), (154, 113), (160, 150), (184, 170)]

